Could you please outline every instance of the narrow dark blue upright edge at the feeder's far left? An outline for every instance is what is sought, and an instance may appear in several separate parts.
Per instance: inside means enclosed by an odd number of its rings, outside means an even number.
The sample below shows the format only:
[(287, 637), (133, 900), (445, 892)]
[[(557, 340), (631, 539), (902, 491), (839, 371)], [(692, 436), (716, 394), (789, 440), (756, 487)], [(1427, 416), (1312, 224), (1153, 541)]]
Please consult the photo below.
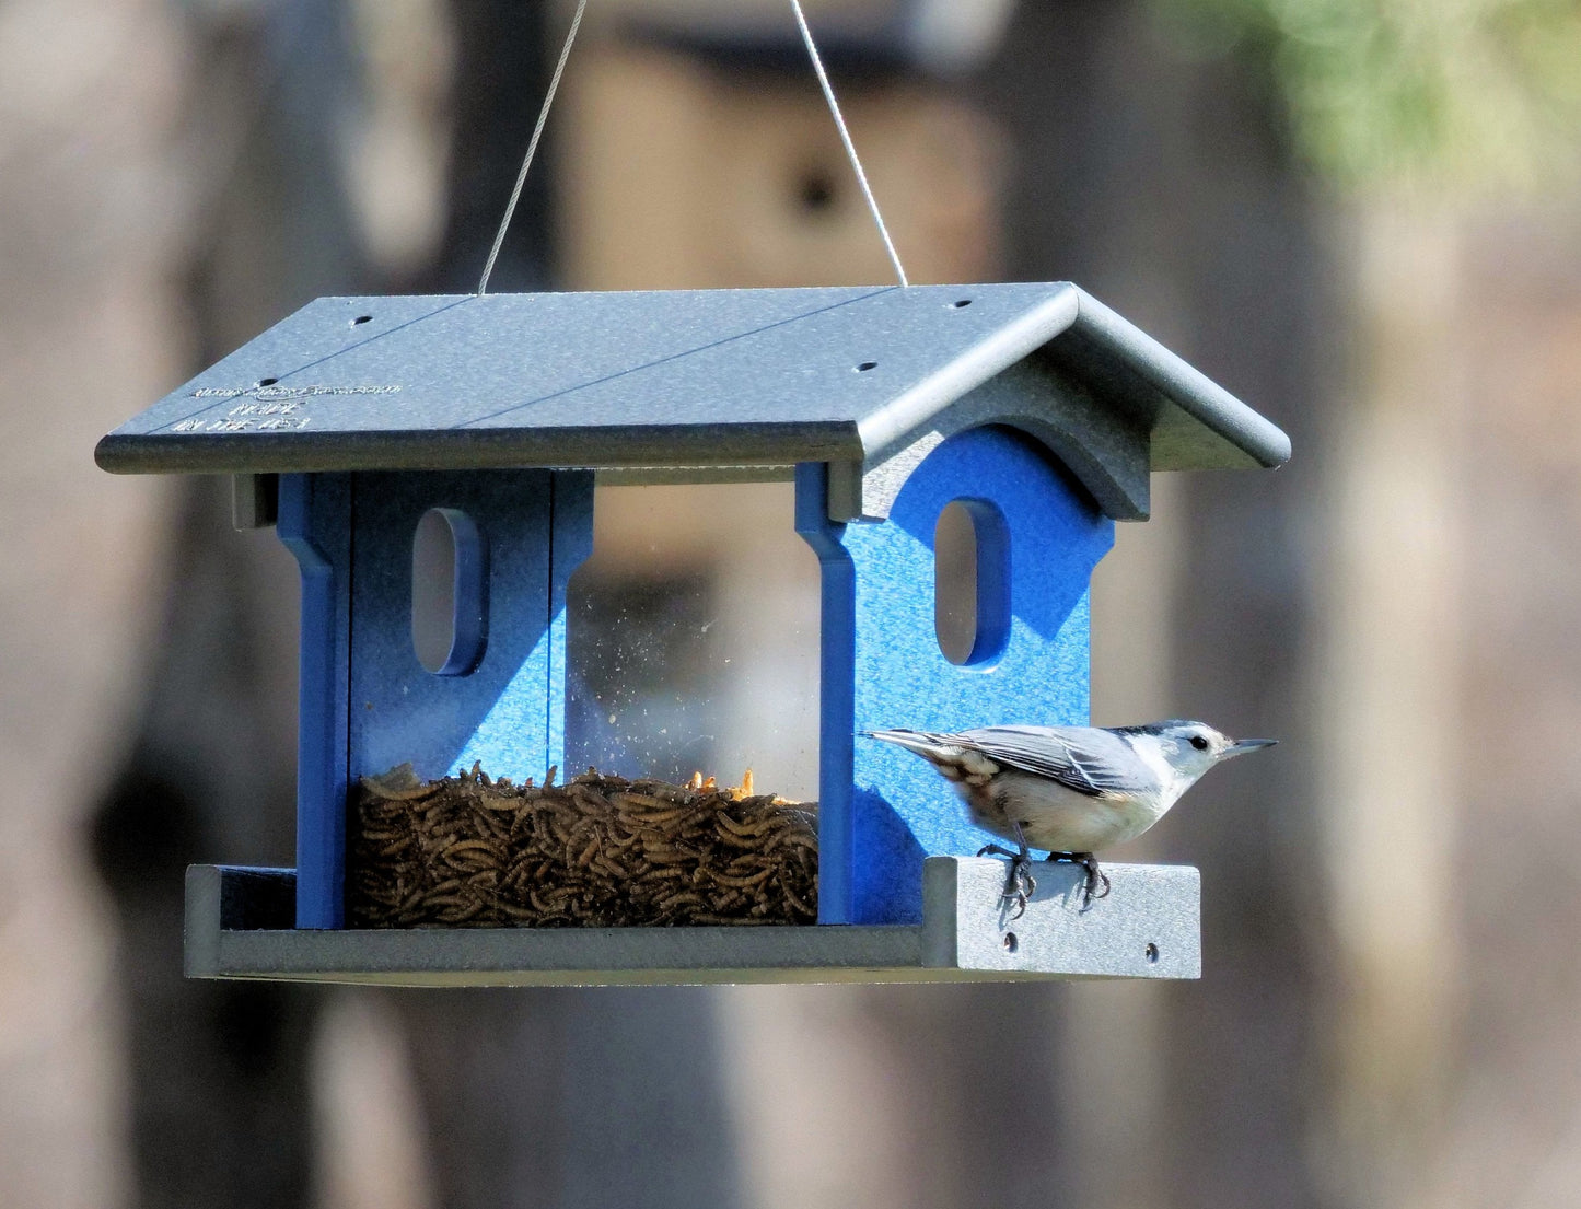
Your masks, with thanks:
[(280, 476), (280, 540), (302, 569), (297, 928), (340, 928), (346, 876), (351, 476)]

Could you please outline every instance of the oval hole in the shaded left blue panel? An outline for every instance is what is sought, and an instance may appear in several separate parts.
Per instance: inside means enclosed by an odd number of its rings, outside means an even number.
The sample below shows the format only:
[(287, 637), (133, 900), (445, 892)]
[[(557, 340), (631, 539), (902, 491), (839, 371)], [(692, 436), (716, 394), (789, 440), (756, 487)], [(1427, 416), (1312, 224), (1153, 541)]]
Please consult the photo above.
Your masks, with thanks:
[(489, 635), (489, 558), (465, 512), (432, 507), (411, 539), (411, 645), (436, 676), (477, 667)]

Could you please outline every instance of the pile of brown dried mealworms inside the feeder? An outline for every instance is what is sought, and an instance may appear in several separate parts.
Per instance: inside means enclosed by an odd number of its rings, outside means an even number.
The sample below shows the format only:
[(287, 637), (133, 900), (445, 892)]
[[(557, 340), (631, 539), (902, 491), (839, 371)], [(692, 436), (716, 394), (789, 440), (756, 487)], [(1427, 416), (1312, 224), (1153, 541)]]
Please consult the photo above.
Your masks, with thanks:
[(624, 928), (817, 921), (816, 808), (588, 771), (569, 784), (411, 765), (353, 790), (357, 928)]

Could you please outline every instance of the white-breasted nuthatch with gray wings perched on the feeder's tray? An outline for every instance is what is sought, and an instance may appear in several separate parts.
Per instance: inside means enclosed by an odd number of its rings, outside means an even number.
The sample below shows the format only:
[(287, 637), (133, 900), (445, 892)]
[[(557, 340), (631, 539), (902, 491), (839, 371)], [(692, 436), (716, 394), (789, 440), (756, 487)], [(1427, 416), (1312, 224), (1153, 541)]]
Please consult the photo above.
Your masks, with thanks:
[(1134, 839), (1224, 760), (1277, 740), (1232, 740), (1206, 722), (1172, 717), (1134, 727), (990, 725), (938, 733), (865, 730), (931, 763), (966, 803), (972, 822), (1001, 839), (979, 857), (1010, 858), (1004, 901), (1013, 918), (1037, 890), (1031, 849), (1086, 869), (1081, 910), (1110, 891), (1092, 855)]

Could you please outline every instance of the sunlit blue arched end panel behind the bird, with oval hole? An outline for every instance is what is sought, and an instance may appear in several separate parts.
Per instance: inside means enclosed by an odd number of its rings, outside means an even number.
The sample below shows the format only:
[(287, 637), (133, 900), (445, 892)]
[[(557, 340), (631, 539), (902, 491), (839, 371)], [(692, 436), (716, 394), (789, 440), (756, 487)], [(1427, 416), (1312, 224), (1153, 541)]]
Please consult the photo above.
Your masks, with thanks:
[[(797, 528), (824, 566), (819, 918), (914, 923), (923, 857), (969, 855), (991, 836), (966, 822), (923, 760), (854, 735), (1085, 724), (1088, 585), (1113, 544), (1113, 522), (1042, 446), (1006, 428), (942, 443), (889, 522), (828, 523), (822, 474), (800, 466), (797, 477)], [(934, 634), (933, 534), (952, 499), (994, 509), (1009, 542), (1004, 648), (963, 667), (944, 657)]]

